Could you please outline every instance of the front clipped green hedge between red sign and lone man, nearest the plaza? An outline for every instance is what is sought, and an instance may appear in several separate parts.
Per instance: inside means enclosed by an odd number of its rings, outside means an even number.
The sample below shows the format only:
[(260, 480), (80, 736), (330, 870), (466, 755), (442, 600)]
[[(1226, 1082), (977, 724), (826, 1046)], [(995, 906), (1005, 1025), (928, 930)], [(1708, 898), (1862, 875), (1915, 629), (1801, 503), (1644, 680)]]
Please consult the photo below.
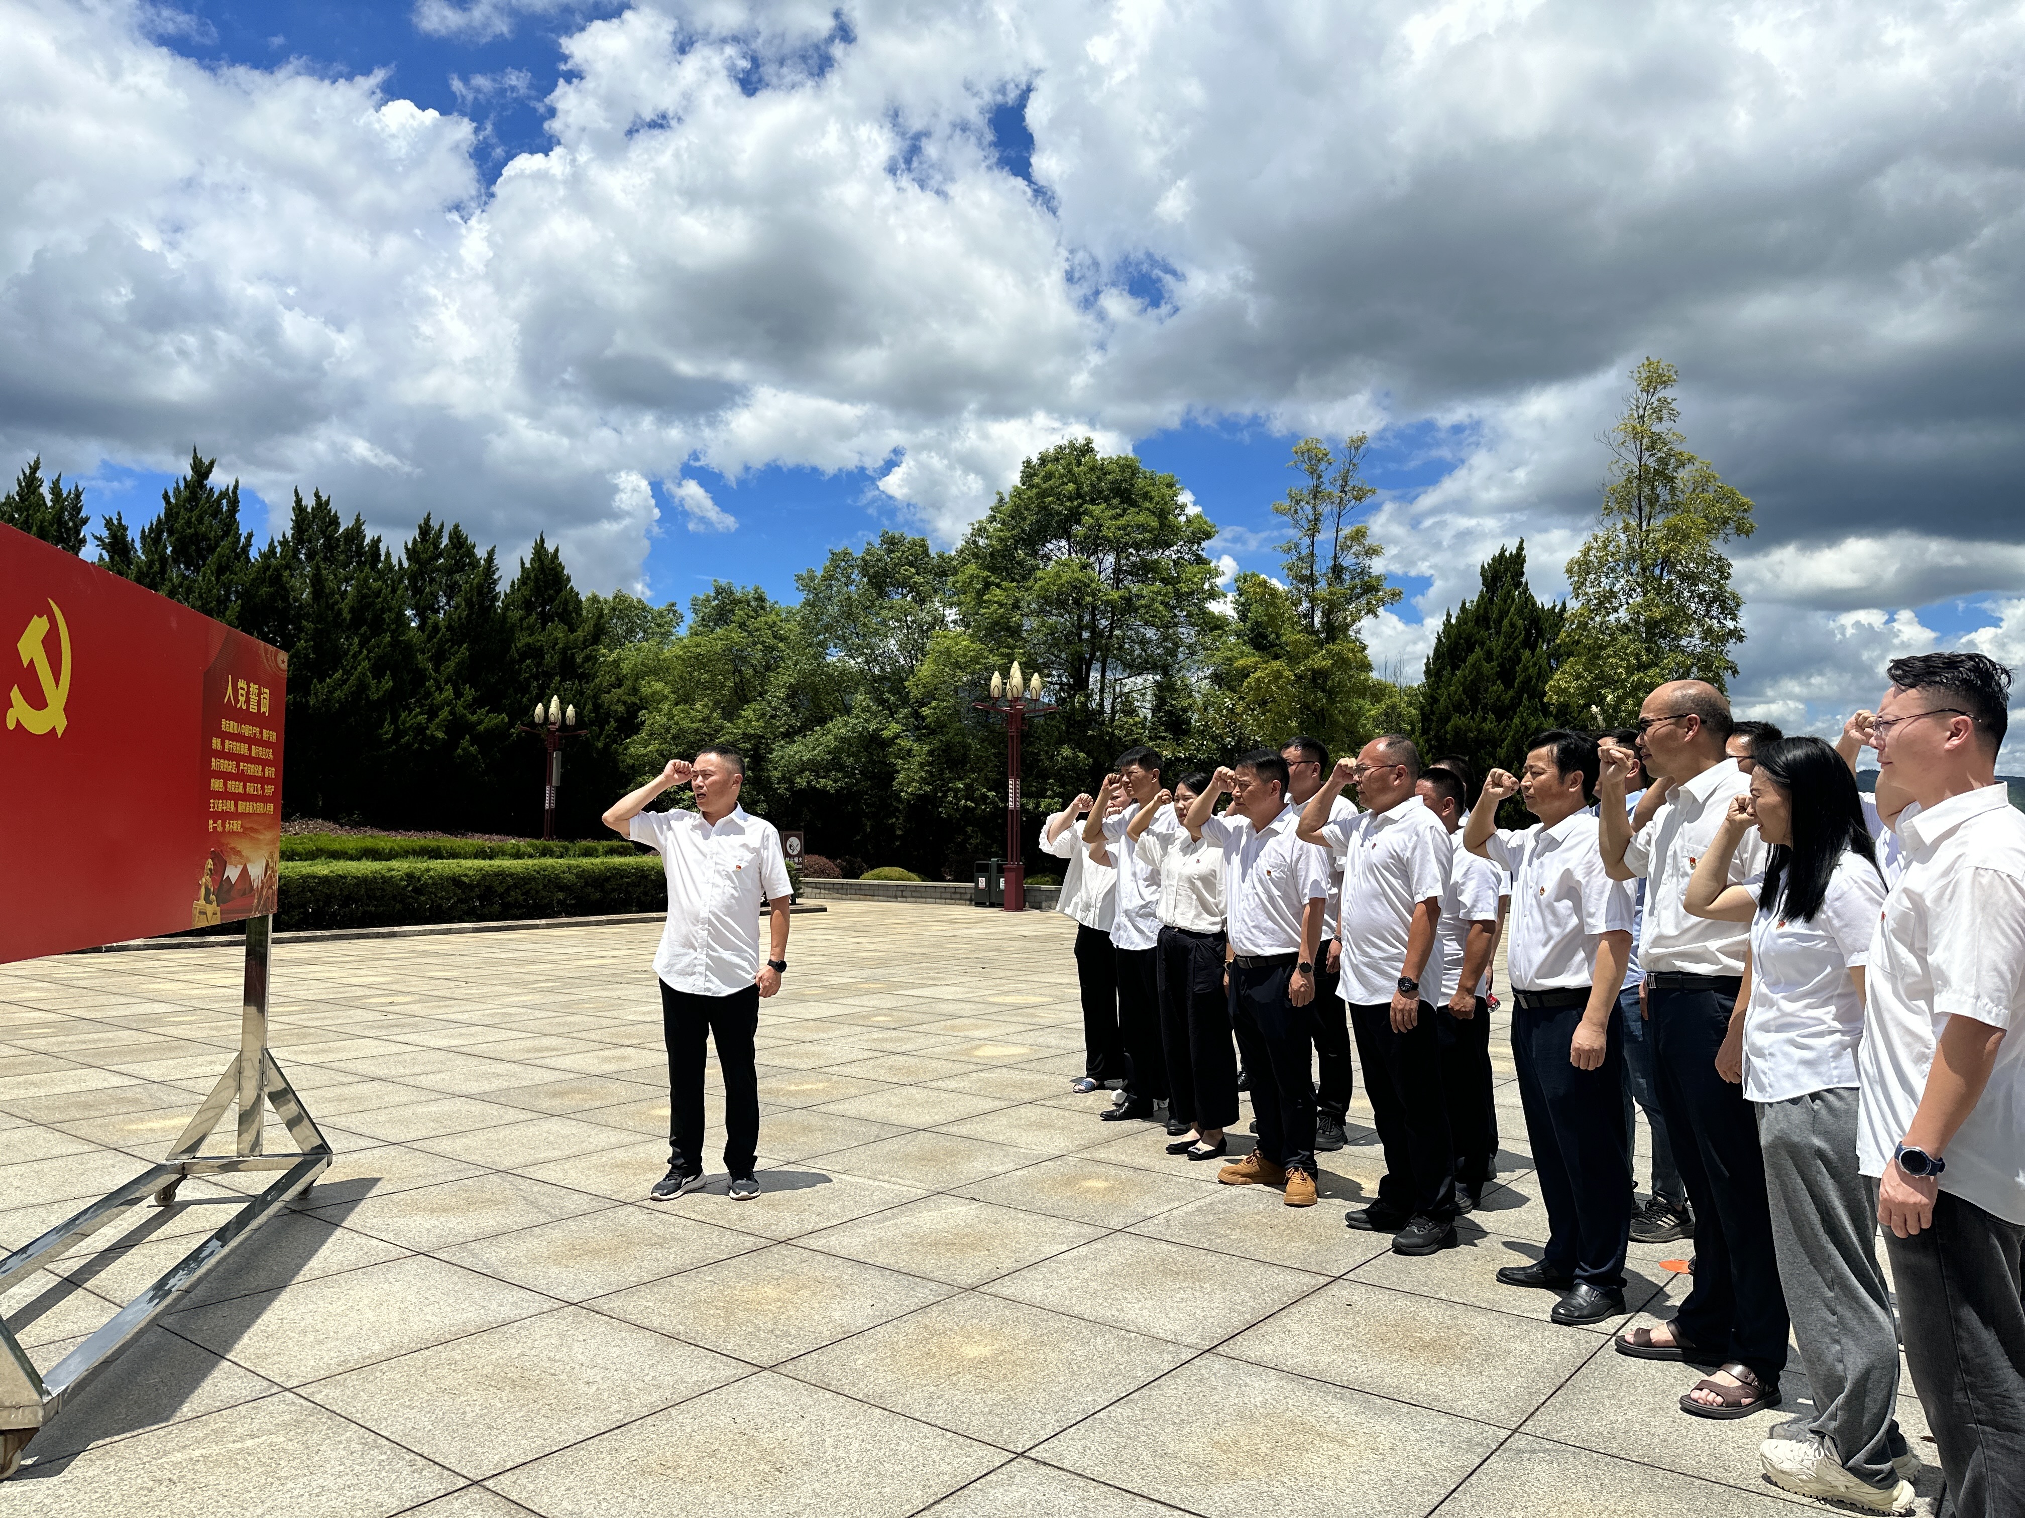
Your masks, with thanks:
[(504, 923), (535, 917), (654, 913), (668, 905), (660, 856), (281, 862), (279, 921), (290, 929)]

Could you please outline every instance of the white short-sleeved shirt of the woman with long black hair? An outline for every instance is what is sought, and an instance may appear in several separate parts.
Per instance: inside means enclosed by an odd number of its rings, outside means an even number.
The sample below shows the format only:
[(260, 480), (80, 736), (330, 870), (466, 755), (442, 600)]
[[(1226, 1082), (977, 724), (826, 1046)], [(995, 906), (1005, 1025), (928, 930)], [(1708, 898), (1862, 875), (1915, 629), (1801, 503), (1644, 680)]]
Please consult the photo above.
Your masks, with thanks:
[(1744, 1010), (1746, 1101), (1790, 1101), (1857, 1083), (1863, 998), (1849, 972), (1871, 957), (1883, 876), (1843, 854), (1814, 921), (1752, 917), (1752, 1000)]

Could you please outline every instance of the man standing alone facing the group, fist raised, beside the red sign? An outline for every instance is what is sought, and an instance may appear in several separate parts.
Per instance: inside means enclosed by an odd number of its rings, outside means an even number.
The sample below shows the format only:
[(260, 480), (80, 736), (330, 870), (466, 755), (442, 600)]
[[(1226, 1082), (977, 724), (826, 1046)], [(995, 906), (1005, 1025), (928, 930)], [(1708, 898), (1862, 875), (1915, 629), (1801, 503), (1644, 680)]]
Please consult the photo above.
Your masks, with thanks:
[[(648, 812), (674, 785), (688, 785), (697, 810)], [(660, 1022), (668, 1044), (668, 1174), (648, 1196), (666, 1202), (703, 1190), (703, 1057), (717, 1040), (725, 1077), (725, 1170), (733, 1200), (759, 1194), (759, 1077), (753, 1034), (759, 998), (780, 990), (788, 969), (788, 860), (772, 822), (739, 806), (745, 759), (715, 747), (695, 763), (670, 759), (654, 779), (605, 812), (605, 826), (662, 858), (668, 925), (654, 953)], [(772, 949), (759, 963), (759, 903), (770, 907)]]

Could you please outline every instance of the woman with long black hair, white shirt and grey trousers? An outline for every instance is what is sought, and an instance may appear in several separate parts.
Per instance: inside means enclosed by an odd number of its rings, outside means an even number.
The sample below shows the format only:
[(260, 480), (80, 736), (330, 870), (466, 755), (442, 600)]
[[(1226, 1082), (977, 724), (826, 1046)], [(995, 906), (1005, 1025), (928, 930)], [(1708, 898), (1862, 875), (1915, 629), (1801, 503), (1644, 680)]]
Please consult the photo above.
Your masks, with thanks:
[[(1810, 1437), (1766, 1439), (1760, 1457), (1788, 1492), (1906, 1512), (1914, 1492), (1901, 1469), (1912, 1461), (1891, 1415), (1897, 1328), (1873, 1247), (1875, 1182), (1857, 1174), (1863, 965), (1885, 882), (1857, 781), (1835, 749), (1782, 739), (1754, 759), (1750, 795), (1731, 799), (1685, 905), (1752, 925), (1746, 992), (1715, 1069), (1744, 1083), (1758, 1113), (1780, 1285), (1814, 1393)], [(1727, 884), (1754, 826), (1772, 846), (1764, 878)], [(1689, 1397), (1705, 1417), (1737, 1401), (1715, 1376)]]

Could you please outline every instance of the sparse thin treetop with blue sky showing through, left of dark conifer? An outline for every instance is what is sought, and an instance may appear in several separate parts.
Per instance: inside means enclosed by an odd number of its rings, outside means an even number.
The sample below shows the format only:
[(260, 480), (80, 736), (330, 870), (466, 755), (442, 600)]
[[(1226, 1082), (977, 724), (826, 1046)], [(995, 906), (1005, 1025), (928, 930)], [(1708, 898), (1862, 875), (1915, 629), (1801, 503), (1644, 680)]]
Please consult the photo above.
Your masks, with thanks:
[(1306, 484), (1274, 502), (1274, 512), (1294, 528), (1280, 544), (1288, 589), (1308, 636), (1324, 646), (1355, 638), (1365, 617), (1403, 595), (1377, 569), (1385, 549), (1371, 538), (1369, 524), (1349, 520), (1379, 494), (1363, 478), (1367, 443), (1369, 433), (1355, 433), (1336, 455), (1320, 437), (1302, 437), (1288, 468), (1300, 470)]

